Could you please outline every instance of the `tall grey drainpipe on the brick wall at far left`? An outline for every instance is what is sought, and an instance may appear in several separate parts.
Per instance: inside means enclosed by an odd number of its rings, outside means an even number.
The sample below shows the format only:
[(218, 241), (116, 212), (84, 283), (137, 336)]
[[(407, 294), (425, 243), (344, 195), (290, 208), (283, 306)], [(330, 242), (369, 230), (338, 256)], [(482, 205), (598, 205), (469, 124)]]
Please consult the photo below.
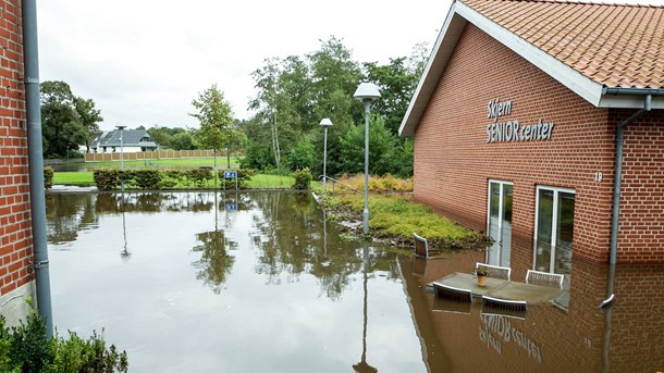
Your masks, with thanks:
[(41, 145), (41, 109), (39, 107), (39, 53), (37, 48), (36, 0), (22, 1), (21, 11), (23, 13), (25, 107), (37, 309), (46, 322), (46, 336), (50, 338), (53, 335), (53, 318), (51, 312), (51, 285), (46, 240), (46, 197), (44, 187), (44, 149)]

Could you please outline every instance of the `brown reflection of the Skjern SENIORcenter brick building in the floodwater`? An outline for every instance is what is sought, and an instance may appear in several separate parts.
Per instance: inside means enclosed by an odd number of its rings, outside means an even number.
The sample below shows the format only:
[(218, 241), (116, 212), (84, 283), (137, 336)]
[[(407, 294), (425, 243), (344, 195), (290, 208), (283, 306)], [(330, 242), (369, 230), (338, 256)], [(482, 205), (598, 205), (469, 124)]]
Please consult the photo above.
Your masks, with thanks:
[(602, 310), (598, 304), (605, 293), (608, 265), (577, 261), (567, 309), (536, 304), (522, 320), (482, 314), (478, 301), (467, 306), (469, 312), (441, 307), (425, 291), (423, 284), (469, 266), (475, 259), (430, 260), (430, 275), (425, 278), (417, 276), (410, 258), (399, 260), (430, 372), (655, 372), (664, 368), (664, 361), (653, 359), (664, 356), (664, 265), (618, 265), (614, 286), (618, 300)]

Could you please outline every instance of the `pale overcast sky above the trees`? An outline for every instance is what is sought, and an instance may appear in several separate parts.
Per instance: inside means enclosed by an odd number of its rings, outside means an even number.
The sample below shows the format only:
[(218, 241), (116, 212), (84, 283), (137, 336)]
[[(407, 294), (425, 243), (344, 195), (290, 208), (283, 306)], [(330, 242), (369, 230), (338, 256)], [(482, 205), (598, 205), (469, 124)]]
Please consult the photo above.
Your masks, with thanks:
[(433, 45), (450, 0), (38, 0), (40, 79), (64, 80), (115, 125), (189, 126), (192, 99), (213, 83), (236, 117), (250, 73), (335, 36), (358, 62), (386, 63)]

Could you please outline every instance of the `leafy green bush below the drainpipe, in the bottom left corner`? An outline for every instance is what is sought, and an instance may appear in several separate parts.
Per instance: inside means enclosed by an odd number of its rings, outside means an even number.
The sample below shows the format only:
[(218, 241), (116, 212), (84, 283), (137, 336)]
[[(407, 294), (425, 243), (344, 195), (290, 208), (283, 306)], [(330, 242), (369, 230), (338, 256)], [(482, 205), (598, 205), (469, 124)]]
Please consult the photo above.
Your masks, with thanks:
[[(30, 300), (28, 300), (30, 303)], [(56, 336), (46, 338), (46, 323), (35, 310), (26, 322), (8, 328), (0, 316), (0, 371), (11, 373), (127, 372), (126, 352), (115, 346), (106, 347), (103, 336), (94, 332), (87, 340), (70, 332), (66, 340)]]

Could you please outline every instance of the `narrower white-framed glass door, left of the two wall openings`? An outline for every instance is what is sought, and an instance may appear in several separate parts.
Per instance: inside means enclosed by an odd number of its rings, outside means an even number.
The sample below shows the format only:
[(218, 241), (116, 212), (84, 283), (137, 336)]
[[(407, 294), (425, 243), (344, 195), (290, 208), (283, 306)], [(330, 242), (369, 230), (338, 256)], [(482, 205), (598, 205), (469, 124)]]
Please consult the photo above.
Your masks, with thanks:
[(487, 251), (487, 263), (492, 265), (511, 266), (512, 192), (512, 183), (489, 181), (487, 232), (493, 243)]

